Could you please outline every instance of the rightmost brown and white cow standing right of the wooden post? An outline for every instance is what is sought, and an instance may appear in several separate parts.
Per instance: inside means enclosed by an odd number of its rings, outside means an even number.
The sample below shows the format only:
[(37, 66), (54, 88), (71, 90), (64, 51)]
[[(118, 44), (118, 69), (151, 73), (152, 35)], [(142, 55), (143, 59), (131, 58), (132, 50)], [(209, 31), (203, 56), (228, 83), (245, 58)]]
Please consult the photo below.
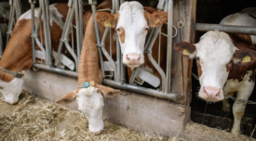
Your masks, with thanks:
[[(222, 25), (256, 26), (256, 19), (246, 13), (225, 17)], [(248, 100), (254, 87), (256, 36), (209, 31), (197, 44), (175, 43), (173, 48), (184, 58), (195, 58), (200, 82), (198, 96), (206, 101), (222, 101), (229, 112), (228, 96)], [(227, 96), (225, 96), (227, 95)], [(240, 122), (247, 103), (236, 100), (233, 106), (232, 134), (240, 134)]]

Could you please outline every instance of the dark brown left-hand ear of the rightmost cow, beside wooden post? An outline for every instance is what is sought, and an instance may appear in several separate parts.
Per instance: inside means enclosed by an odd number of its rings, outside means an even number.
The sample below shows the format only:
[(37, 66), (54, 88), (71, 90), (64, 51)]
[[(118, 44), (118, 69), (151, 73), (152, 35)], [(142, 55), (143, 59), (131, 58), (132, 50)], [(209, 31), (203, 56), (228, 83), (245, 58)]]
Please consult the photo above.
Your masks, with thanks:
[(187, 42), (178, 42), (173, 45), (173, 49), (176, 50), (180, 55), (182, 55), (182, 57), (189, 58), (188, 55), (183, 54), (183, 50), (187, 49), (190, 52), (190, 54), (193, 54), (196, 50), (196, 47), (195, 45), (192, 45)]

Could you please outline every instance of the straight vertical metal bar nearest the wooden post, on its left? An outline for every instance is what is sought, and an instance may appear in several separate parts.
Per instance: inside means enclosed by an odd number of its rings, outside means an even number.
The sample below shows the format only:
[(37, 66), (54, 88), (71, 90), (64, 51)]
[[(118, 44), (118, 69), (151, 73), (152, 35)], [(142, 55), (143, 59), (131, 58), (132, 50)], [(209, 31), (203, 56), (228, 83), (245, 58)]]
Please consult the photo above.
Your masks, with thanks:
[(171, 57), (172, 57), (172, 18), (173, 18), (173, 0), (168, 0), (168, 45), (167, 45), (167, 83), (163, 83), (166, 87), (164, 93), (170, 93), (171, 79)]

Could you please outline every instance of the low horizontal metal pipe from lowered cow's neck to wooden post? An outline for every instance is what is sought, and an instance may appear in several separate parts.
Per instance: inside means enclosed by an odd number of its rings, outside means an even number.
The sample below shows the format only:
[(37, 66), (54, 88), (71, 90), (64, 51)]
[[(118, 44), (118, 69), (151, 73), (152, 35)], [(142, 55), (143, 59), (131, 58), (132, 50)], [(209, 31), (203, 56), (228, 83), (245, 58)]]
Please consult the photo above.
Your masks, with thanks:
[(140, 94), (144, 94), (144, 95), (164, 98), (164, 99), (168, 99), (168, 100), (171, 100), (171, 101), (177, 101), (179, 98), (181, 98), (180, 96), (182, 96), (182, 95), (179, 95), (179, 94), (168, 94), (168, 95), (166, 95), (165, 93), (157, 91), (157, 90), (144, 88), (144, 87), (141, 87), (141, 86), (134, 86), (134, 85), (126, 84), (126, 83), (124, 83), (124, 84), (115, 83), (114, 81), (107, 80), (107, 79), (103, 79), (102, 83), (104, 85), (109, 85), (109, 86), (114, 87), (114, 88), (128, 90), (128, 91), (132, 91), (132, 92), (140, 93)]

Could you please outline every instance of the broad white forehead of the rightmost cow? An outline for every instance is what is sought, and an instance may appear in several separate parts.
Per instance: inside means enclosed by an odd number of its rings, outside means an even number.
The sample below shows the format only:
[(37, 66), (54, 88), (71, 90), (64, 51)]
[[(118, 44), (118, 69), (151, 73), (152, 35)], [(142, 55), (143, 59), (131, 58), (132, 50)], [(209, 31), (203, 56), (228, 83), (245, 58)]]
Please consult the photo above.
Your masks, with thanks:
[(203, 61), (218, 60), (221, 64), (229, 62), (236, 51), (236, 46), (225, 32), (207, 32), (198, 45), (197, 56)]

